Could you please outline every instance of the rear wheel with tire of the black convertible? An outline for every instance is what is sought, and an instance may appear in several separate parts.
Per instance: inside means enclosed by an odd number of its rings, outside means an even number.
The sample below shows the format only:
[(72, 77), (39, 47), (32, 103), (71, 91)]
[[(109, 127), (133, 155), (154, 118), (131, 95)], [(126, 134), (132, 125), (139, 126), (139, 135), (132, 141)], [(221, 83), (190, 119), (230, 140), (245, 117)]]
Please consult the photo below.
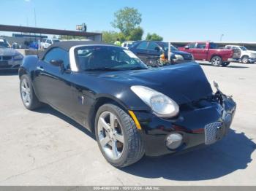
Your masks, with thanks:
[(37, 95), (34, 93), (31, 79), (26, 74), (20, 77), (20, 98), (26, 109), (34, 110), (42, 106), (42, 103), (38, 100)]

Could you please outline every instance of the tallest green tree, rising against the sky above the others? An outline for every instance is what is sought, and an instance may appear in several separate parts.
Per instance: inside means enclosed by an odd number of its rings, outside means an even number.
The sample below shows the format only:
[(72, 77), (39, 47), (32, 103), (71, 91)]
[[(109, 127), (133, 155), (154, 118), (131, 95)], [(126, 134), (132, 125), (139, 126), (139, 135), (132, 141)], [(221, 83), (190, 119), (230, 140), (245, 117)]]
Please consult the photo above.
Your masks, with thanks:
[(141, 23), (141, 14), (138, 9), (124, 7), (114, 13), (115, 19), (111, 23), (113, 28), (118, 28), (125, 36), (129, 36), (131, 31)]

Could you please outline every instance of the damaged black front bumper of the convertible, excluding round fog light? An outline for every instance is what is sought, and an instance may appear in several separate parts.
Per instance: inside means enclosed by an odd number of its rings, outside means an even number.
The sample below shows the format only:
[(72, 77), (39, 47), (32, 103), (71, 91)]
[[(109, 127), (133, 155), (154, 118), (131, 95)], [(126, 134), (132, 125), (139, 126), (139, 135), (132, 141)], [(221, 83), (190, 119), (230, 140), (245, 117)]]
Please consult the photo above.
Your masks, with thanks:
[[(142, 128), (146, 155), (159, 156), (214, 144), (227, 134), (235, 112), (233, 98), (218, 89), (211, 98), (181, 105), (176, 119), (162, 119), (150, 112), (135, 112), (135, 115)], [(182, 144), (176, 149), (167, 147), (167, 136), (172, 133), (182, 136)]]

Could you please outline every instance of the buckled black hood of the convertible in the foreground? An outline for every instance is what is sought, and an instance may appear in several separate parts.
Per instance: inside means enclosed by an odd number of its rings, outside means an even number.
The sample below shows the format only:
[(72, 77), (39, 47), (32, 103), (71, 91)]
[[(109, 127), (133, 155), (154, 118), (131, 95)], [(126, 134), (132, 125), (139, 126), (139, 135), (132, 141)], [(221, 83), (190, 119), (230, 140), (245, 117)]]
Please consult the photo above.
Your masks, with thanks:
[[(165, 66), (159, 69), (138, 71), (113, 71), (97, 74), (99, 79), (110, 82), (112, 87), (129, 89), (143, 85), (163, 93), (177, 104), (198, 101), (212, 95), (211, 85), (199, 64), (195, 62)], [(116, 84), (115, 84), (116, 83)], [(108, 85), (108, 83), (106, 83)]]

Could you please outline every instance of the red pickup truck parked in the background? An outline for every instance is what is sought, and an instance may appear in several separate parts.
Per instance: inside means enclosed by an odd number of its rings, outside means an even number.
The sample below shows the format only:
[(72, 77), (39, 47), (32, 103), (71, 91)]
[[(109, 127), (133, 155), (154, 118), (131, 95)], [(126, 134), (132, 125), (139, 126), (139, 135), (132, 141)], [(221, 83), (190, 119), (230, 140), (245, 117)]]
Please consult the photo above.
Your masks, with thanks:
[(227, 66), (233, 60), (233, 50), (218, 48), (213, 42), (192, 42), (178, 50), (189, 52), (198, 61), (209, 61), (213, 66)]

